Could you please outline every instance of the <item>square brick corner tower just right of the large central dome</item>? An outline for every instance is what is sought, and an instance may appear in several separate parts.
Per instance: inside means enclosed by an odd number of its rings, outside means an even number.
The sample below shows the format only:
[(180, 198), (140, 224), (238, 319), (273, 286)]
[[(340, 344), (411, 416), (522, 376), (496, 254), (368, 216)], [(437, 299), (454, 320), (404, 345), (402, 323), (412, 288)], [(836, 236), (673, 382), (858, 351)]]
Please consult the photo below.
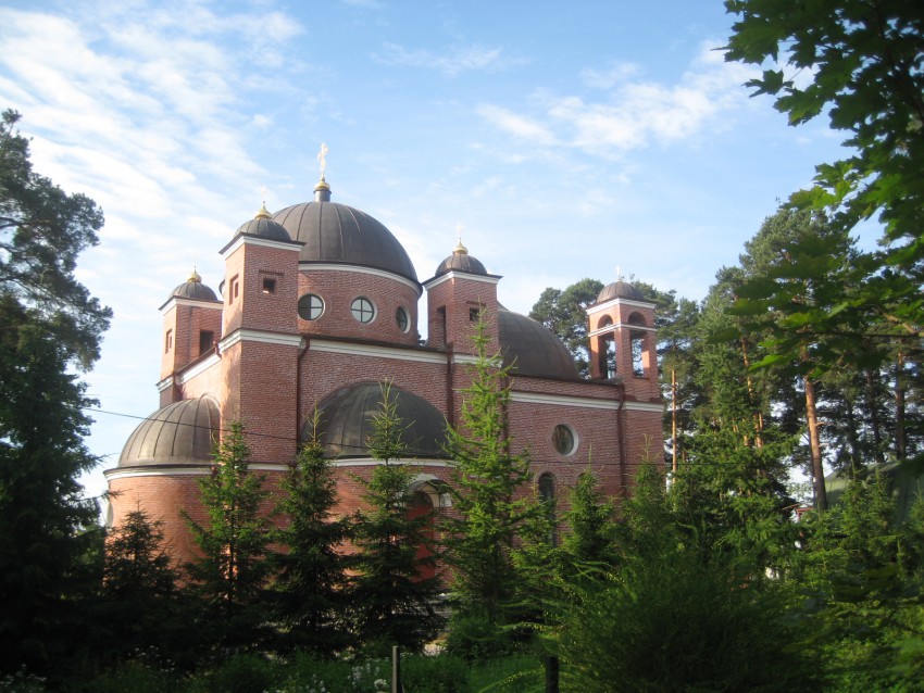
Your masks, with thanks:
[(452, 254), (436, 268), (427, 290), (427, 344), (457, 353), (473, 353), (472, 335), (478, 317), (485, 322), (496, 353), (498, 341), (497, 285), (500, 277), (489, 275), (485, 266), (469, 254), (462, 239)]

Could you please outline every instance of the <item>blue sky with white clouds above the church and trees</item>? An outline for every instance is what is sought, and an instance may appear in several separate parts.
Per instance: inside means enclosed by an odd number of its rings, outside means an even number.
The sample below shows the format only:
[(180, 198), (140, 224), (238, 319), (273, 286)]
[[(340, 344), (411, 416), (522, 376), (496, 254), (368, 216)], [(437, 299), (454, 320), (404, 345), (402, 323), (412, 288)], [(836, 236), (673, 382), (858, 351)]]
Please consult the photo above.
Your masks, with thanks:
[(115, 313), (87, 376), (115, 413), (95, 415), (100, 469), (158, 407), (159, 306), (193, 265), (217, 289), (264, 187), (271, 211), (311, 199), (322, 142), (334, 201), (422, 280), (461, 224), (514, 311), (616, 267), (701, 299), (842, 153), (749, 98), (753, 68), (716, 50), (731, 24), (721, 0), (0, 3), (0, 108), (107, 216), (78, 268)]

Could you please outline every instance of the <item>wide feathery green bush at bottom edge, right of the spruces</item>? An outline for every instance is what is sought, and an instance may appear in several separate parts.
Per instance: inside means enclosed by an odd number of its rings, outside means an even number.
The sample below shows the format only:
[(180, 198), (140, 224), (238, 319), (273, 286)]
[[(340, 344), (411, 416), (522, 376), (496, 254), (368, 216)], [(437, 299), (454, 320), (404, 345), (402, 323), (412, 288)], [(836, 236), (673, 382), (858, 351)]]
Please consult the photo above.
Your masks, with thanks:
[[(562, 607), (569, 685), (586, 691), (813, 690), (777, 585), (684, 527), (652, 465), (623, 504), (622, 560)], [(690, 531), (690, 530), (694, 531)]]

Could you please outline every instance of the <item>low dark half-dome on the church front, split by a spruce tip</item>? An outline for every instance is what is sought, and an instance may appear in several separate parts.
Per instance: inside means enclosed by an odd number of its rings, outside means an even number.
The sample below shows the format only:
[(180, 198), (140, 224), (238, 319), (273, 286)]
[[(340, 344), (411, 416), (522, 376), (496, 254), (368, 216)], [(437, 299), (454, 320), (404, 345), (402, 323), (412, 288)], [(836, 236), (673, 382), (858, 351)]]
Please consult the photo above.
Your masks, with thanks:
[[(411, 457), (446, 458), (446, 417), (433, 404), (411, 392), (391, 386), (398, 416), (407, 429), (401, 440)], [(360, 382), (332, 392), (319, 404), (321, 443), (329, 456), (369, 456), (367, 441), (373, 432), (373, 416), (380, 411), (382, 385)], [(302, 430), (302, 439), (307, 429)]]

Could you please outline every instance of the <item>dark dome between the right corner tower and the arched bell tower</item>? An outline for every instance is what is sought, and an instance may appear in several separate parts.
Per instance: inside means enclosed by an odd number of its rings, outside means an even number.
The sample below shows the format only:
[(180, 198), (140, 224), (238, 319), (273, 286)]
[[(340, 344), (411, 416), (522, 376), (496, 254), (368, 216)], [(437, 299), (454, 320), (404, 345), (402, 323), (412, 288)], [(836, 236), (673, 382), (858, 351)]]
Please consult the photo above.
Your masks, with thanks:
[(571, 352), (545, 325), (498, 305), (498, 338), (503, 365), (521, 376), (578, 380)]

